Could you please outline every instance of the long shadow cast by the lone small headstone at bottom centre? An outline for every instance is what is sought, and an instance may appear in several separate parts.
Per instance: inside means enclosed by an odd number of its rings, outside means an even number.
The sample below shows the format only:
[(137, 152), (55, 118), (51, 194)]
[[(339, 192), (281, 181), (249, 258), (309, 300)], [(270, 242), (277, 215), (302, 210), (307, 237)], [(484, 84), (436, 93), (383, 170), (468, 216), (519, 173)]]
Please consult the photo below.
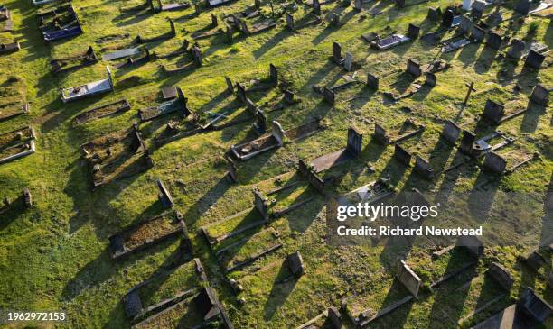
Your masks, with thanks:
[[(290, 280), (282, 282), (289, 277), (291, 277)], [(280, 270), (278, 270), (277, 277), (273, 281), (273, 288), (271, 288), (271, 292), (263, 308), (263, 318), (265, 321), (271, 320), (278, 308), (286, 303), (286, 299), (294, 290), (297, 280), (292, 276), (290, 270), (288, 270), (287, 261), (285, 260), (280, 266)]]

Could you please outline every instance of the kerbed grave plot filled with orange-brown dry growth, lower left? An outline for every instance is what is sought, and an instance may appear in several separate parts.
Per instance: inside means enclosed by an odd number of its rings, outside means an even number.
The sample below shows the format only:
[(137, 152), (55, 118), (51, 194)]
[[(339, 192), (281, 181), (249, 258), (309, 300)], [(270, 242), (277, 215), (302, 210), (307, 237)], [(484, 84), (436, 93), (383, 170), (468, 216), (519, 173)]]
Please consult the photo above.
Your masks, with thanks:
[(116, 260), (141, 251), (170, 237), (183, 234), (185, 225), (181, 215), (165, 213), (109, 237), (111, 258)]

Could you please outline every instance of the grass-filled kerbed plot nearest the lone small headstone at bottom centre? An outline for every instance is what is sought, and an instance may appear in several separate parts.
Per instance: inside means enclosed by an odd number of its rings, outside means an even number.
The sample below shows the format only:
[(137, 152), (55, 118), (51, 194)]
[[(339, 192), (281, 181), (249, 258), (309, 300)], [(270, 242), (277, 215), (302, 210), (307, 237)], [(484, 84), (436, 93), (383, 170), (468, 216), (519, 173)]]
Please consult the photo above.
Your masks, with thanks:
[(278, 233), (272, 228), (261, 231), (230, 244), (224, 251), (218, 252), (217, 259), (227, 273), (242, 269), (259, 258), (277, 251), (282, 247)]

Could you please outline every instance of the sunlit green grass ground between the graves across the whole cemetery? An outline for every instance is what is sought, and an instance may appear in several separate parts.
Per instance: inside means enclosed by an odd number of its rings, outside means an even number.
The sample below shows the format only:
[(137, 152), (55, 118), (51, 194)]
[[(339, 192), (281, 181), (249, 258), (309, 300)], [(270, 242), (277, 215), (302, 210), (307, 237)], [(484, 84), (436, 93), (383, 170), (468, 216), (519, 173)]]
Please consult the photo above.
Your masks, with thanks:
[[(340, 26), (331, 26), (323, 20), (293, 32), (286, 28), (286, 16), (277, 16), (277, 27), (248, 36), (234, 32), (232, 43), (225, 39), (224, 33), (197, 40), (202, 50), (202, 66), (166, 72), (164, 65), (182, 67), (192, 63), (192, 55), (188, 53), (169, 58), (163, 55), (180, 50), (184, 39), (193, 43), (193, 32), (211, 31), (211, 14), (218, 16), (221, 27), (223, 14), (238, 14), (252, 7), (253, 2), (238, 0), (214, 8), (202, 5), (201, 14), (194, 17), (193, 7), (156, 14), (148, 10), (127, 13), (121, 8), (141, 5), (141, 2), (79, 0), (73, 6), (84, 33), (50, 43), (42, 40), (37, 27), (37, 7), (32, 1), (4, 2), (12, 12), (15, 28), (14, 32), (0, 33), (0, 42), (19, 41), (21, 50), (0, 55), (0, 116), (26, 103), (30, 110), (9, 120), (0, 120), (0, 133), (31, 126), (36, 135), (36, 151), (0, 164), (2, 199), (17, 200), (25, 187), (33, 194), (32, 207), (26, 208), (14, 201), (5, 212), (0, 210), (0, 309), (65, 310), (69, 320), (55, 324), (56, 327), (129, 327), (131, 323), (122, 300), (127, 291), (156, 273), (168, 272), (167, 278), (171, 278), (175, 262), (192, 261), (192, 257), (183, 255), (179, 239), (166, 239), (122, 260), (111, 258), (110, 236), (164, 213), (155, 185), (158, 178), (171, 191), (173, 208), (183, 215), (187, 226), (193, 257), (202, 260), (210, 285), (236, 328), (295, 328), (329, 306), (340, 308), (342, 300), (347, 301), (352, 315), (370, 309), (370, 317), (409, 296), (408, 290), (394, 279), (399, 258), (406, 260), (422, 279), (421, 292), (417, 300), (400, 306), (368, 327), (468, 328), (513, 304), (526, 287), (533, 288), (549, 304), (553, 303), (553, 290), (547, 279), (551, 251), (548, 248), (540, 251), (547, 261), (538, 271), (518, 259), (535, 249), (540, 238), (545, 236), (547, 240), (551, 236), (550, 228), (540, 225), (542, 218), (551, 215), (543, 200), (553, 184), (552, 111), (550, 105), (529, 103), (535, 85), (551, 87), (551, 56), (539, 70), (528, 70), (523, 68), (523, 60), (516, 65), (511, 59), (494, 59), (503, 50), (491, 50), (483, 43), (442, 54), (436, 45), (420, 37), (383, 51), (370, 48), (361, 39), (361, 34), (366, 32), (407, 32), (408, 23), (419, 25), (421, 36), (436, 31), (439, 23), (426, 18), (428, 7), (445, 9), (454, 4), (438, 0), (397, 8), (392, 2), (381, 0), (363, 4), (360, 13), (352, 5), (333, 2), (323, 5), (323, 16), (331, 11), (340, 14)], [(512, 12), (514, 2), (503, 5)], [(294, 14), (296, 20), (311, 11), (303, 5), (298, 7)], [(277, 3), (274, 9), (276, 14), (283, 10)], [(264, 17), (271, 16), (267, 2), (261, 2), (260, 11)], [(107, 65), (117, 66), (125, 59), (98, 60), (57, 74), (51, 72), (52, 59), (83, 53), (89, 46), (98, 54), (135, 47), (133, 40), (138, 34), (155, 38), (167, 33), (167, 17), (175, 23), (176, 36), (146, 43), (158, 59), (113, 69), (113, 93), (70, 103), (61, 101), (61, 88), (104, 79)], [(553, 47), (550, 18), (529, 15), (524, 23), (505, 22), (501, 29), (511, 39), (538, 41)], [(453, 32), (447, 33), (453, 35)], [(98, 42), (109, 35), (117, 37), (113, 41)], [(333, 41), (341, 43), (342, 53), (351, 52), (351, 71), (333, 62)], [(400, 95), (412, 81), (424, 80), (405, 72), (407, 59), (417, 59), (425, 65), (436, 56), (451, 65), (436, 73), (436, 86), (424, 85), (417, 93), (396, 102), (384, 95), (384, 92)], [(248, 91), (248, 87), (255, 86), (250, 83), (255, 78), (267, 83), (269, 64), (278, 69), (279, 86)], [(367, 73), (380, 77), (379, 92), (365, 85)], [(346, 81), (342, 78), (346, 75), (359, 82), (337, 89), (334, 105), (329, 105), (313, 90), (313, 85), (338, 86)], [(238, 183), (232, 183), (227, 177), (228, 165), (223, 155), (231, 145), (258, 138), (252, 125), (254, 119), (190, 134), (186, 132), (192, 115), (185, 119), (180, 112), (140, 122), (138, 110), (164, 103), (160, 90), (170, 86), (183, 90), (188, 98), (187, 107), (200, 123), (208, 123), (214, 117), (212, 114), (221, 113), (228, 117), (225, 123), (249, 119), (246, 105), (239, 104), (236, 95), (228, 93), (224, 77), (246, 85), (248, 98), (267, 114), (267, 132), (273, 120), (287, 130), (317, 117), (321, 118), (322, 129), (303, 139), (286, 141), (282, 147), (252, 159), (236, 161)], [(465, 84), (471, 82), (475, 91), (463, 105)], [(281, 89), (292, 90), (301, 102), (280, 107)], [(77, 115), (121, 99), (127, 100), (130, 110), (75, 123)], [(487, 99), (505, 105), (507, 114), (527, 107), (529, 110), (501, 122), (496, 128), (482, 122)], [(508, 161), (508, 168), (535, 152), (539, 152), (539, 159), (501, 178), (487, 176), (470, 163), (428, 181), (415, 173), (413, 165), (407, 169), (398, 165), (393, 159), (393, 146), (381, 145), (372, 136), (375, 123), (396, 133), (407, 119), (424, 124), (425, 130), (401, 145), (430, 160), (435, 171), (463, 159), (462, 155), (455, 154), (455, 149), (440, 142), (447, 120), (477, 133), (478, 138), (494, 129), (515, 136), (515, 142), (498, 151)], [(81, 145), (128, 130), (133, 123), (139, 125), (154, 166), (93, 189), (92, 171), (83, 158)], [(167, 123), (173, 123), (176, 133), (168, 132)], [(344, 148), (350, 126), (363, 134), (361, 156), (321, 173), (324, 178), (333, 178), (332, 186), (326, 187), (322, 196), (296, 173), (298, 160), (314, 160)], [(4, 146), (1, 135), (0, 143)], [(516, 214), (520, 205), (510, 199), (510, 193), (520, 193), (528, 196), (526, 206), (533, 209), (528, 215), (530, 219), (506, 222), (505, 230), (498, 234), (508, 238), (511, 231), (539, 227), (539, 231), (543, 229), (543, 236), (526, 236), (528, 241), (486, 248), (472, 268), (430, 291), (433, 281), (464, 266), (473, 257), (464, 250), (454, 249), (436, 259), (432, 252), (441, 246), (425, 242), (413, 246), (407, 253), (385, 243), (374, 247), (326, 243), (325, 205), (329, 196), (350, 192), (379, 178), (387, 179), (396, 191), (417, 187), (445, 198), (453, 191), (471, 195), (478, 187), (472, 206), (482, 208), (479, 214), (489, 217), (483, 221)], [(491, 182), (479, 187), (488, 178), (492, 178)], [(295, 185), (286, 187), (292, 184)], [(217, 238), (264, 219), (253, 207), (254, 187), (269, 201), (275, 200), (273, 212), (298, 202), (305, 201), (305, 204), (210, 246), (202, 227), (211, 238)], [(286, 188), (277, 191), (280, 187)], [(451, 201), (451, 206), (459, 206), (460, 216), (466, 213), (466, 205)], [(225, 266), (248, 260), (276, 243), (282, 246), (225, 273)], [(552, 242), (548, 240), (548, 243)], [(220, 258), (224, 260), (221, 264), (216, 253), (227, 247)], [(305, 274), (290, 279), (285, 260), (295, 251), (300, 251), (303, 257)], [(505, 291), (485, 274), (492, 262), (501, 263), (511, 273), (514, 279), (511, 290)], [(238, 294), (229, 279), (236, 279), (242, 286)], [(187, 286), (192, 281), (183, 279), (182, 290), (192, 288), (192, 284)], [(166, 282), (171, 285), (172, 293), (179, 290), (173, 286), (175, 279)], [(161, 297), (155, 293), (148, 299), (157, 302)], [(245, 303), (242, 304), (241, 298)], [(491, 300), (493, 303), (489, 303)], [(345, 327), (353, 327), (350, 320), (345, 320), (344, 312), (342, 317)], [(332, 327), (324, 319), (315, 324)], [(37, 325), (53, 327), (53, 324)], [(553, 320), (549, 318), (541, 326), (553, 328)]]

